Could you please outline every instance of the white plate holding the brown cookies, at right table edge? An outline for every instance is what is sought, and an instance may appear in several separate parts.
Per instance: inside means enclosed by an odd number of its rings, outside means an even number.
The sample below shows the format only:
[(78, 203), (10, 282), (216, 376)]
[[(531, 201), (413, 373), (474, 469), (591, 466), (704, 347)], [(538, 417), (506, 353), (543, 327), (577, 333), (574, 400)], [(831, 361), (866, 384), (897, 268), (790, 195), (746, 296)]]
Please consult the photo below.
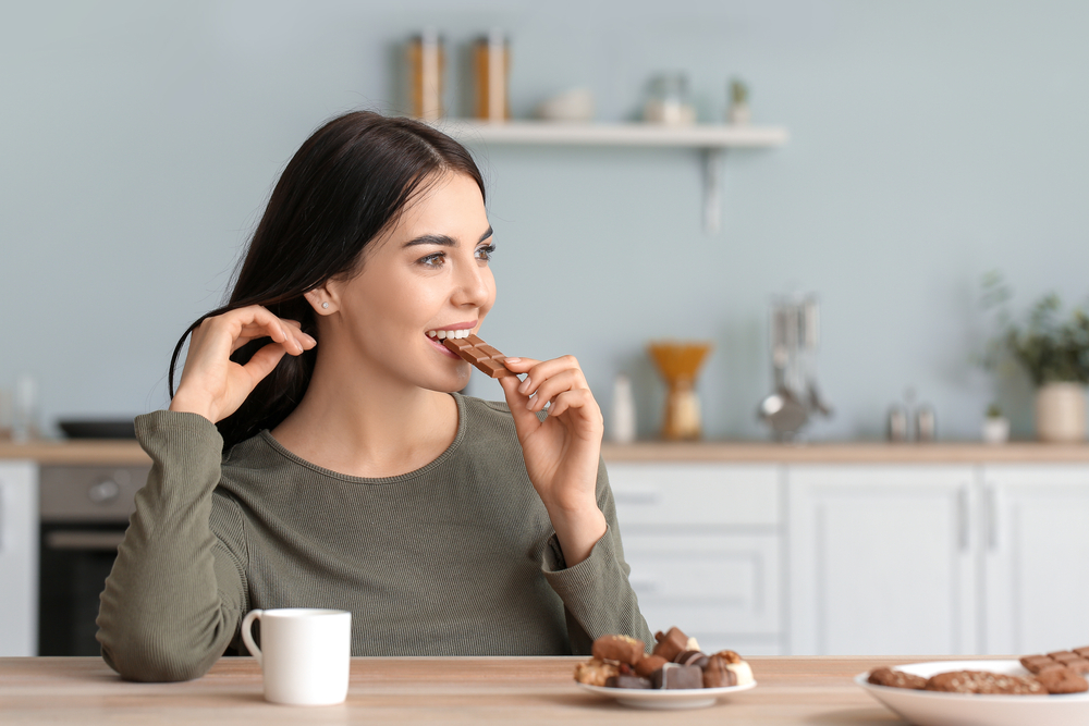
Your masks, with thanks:
[[(950, 670), (990, 670), (1007, 676), (1028, 676), (1017, 661), (935, 661), (892, 666), (929, 678)], [(869, 673), (855, 682), (904, 719), (916, 726), (1085, 726), (1089, 724), (1089, 693), (1068, 696), (980, 696), (940, 693), (909, 688), (874, 686)]]

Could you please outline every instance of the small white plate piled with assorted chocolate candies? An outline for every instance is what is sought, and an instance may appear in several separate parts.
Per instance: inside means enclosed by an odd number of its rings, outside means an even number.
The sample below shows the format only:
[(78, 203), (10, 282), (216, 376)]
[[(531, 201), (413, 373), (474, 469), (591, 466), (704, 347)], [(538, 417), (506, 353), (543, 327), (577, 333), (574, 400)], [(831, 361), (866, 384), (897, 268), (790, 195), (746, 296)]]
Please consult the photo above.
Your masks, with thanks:
[(657, 632), (654, 640), (647, 654), (637, 638), (601, 636), (594, 641), (594, 657), (575, 667), (575, 682), (637, 709), (702, 709), (756, 688), (752, 669), (734, 651), (708, 655), (676, 627)]

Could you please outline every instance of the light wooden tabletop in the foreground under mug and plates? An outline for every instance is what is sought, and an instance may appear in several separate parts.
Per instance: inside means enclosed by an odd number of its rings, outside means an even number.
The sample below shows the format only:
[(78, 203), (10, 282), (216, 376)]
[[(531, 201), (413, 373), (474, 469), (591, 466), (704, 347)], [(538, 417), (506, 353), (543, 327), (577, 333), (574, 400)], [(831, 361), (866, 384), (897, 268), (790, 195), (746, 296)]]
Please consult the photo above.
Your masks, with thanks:
[[(752, 657), (757, 687), (686, 711), (643, 711), (577, 688), (583, 657), (357, 657), (347, 701), (266, 703), (249, 657), (181, 684), (122, 681), (98, 657), (0, 659), (3, 724), (904, 724), (853, 682), (878, 665), (965, 656)], [(980, 656), (972, 656), (980, 657)]]

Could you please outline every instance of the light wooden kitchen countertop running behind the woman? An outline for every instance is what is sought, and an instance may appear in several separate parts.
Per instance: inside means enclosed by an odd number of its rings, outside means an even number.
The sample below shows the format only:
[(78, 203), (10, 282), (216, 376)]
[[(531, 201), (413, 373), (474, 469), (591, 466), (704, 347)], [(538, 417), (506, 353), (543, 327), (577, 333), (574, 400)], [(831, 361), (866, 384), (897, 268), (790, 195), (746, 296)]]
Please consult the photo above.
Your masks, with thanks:
[[(736, 464), (1089, 464), (1089, 443), (1013, 442), (999, 446), (950, 442), (933, 444), (771, 442), (638, 442), (604, 444), (605, 462), (701, 462)], [(0, 460), (39, 464), (146, 465), (147, 454), (135, 441), (0, 442)]]

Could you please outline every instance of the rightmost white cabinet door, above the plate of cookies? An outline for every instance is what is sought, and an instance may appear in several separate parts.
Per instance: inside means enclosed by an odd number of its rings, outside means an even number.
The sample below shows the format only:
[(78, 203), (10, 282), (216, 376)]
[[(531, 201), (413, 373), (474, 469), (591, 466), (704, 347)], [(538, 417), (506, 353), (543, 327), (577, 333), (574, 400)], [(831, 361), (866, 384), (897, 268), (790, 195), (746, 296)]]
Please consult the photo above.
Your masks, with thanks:
[(983, 469), (988, 653), (1089, 644), (1089, 466)]

